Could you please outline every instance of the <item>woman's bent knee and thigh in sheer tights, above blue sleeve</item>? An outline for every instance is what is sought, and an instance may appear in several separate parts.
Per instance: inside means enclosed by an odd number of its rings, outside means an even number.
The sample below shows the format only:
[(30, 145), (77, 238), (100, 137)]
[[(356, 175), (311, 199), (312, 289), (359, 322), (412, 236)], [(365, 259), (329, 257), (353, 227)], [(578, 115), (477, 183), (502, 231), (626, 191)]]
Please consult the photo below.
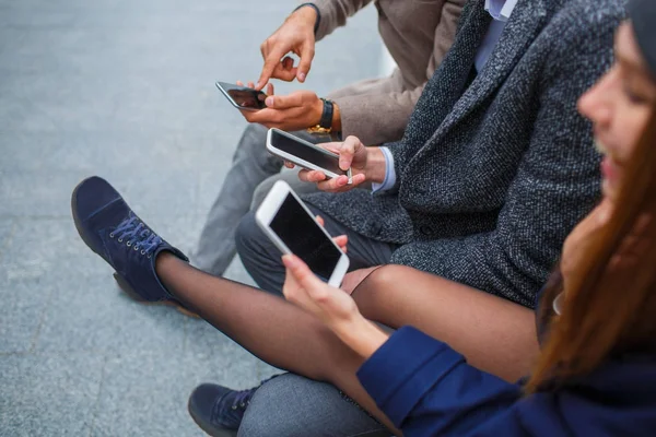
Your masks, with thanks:
[(375, 270), (353, 298), (367, 319), (412, 324), (509, 381), (527, 375), (539, 352), (532, 310), (409, 267)]

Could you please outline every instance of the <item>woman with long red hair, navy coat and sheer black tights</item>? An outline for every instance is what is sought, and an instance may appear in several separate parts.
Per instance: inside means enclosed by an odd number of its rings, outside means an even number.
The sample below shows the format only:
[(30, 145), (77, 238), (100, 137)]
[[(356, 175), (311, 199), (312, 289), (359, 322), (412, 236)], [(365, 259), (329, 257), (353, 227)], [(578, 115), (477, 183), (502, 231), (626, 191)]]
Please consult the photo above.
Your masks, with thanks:
[[(614, 66), (579, 101), (606, 155), (604, 197), (566, 238), (536, 319), (543, 349), (534, 371), (518, 383), (473, 367), (457, 347), (405, 326), (417, 321), (430, 334), (429, 326), (441, 320), (429, 307), (459, 298), (472, 312), (507, 306), (530, 312), (489, 293), (386, 265), (351, 297), (285, 256), (290, 304), (194, 269), (97, 177), (73, 192), (75, 225), (143, 298), (176, 298), (270, 364), (337, 385), (397, 435), (652, 435), (656, 3), (632, 0), (630, 16), (617, 33)], [(345, 244), (343, 237), (337, 240)], [(405, 285), (390, 282), (394, 276)], [(412, 309), (406, 286), (424, 297)], [(386, 314), (367, 315), (373, 306), (356, 303), (361, 295), (386, 300), (378, 306)], [(390, 305), (395, 299), (406, 305)], [(413, 315), (400, 320), (409, 310)], [(367, 319), (399, 329), (388, 335)]]

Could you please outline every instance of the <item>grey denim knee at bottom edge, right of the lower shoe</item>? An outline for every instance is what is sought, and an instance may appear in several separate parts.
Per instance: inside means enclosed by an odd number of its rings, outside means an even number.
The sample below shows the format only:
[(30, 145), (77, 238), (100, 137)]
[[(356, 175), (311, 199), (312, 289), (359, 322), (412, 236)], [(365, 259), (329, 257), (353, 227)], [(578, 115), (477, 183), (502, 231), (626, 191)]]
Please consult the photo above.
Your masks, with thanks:
[(383, 425), (337, 388), (294, 374), (262, 385), (237, 437), (388, 437)]

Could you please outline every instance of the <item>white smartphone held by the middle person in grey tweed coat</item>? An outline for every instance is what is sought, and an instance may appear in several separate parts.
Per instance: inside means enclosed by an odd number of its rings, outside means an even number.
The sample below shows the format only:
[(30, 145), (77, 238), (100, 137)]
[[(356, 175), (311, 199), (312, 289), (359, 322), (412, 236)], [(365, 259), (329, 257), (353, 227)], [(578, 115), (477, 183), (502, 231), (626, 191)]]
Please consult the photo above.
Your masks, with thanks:
[(308, 170), (323, 172), (329, 178), (345, 175), (351, 184), (351, 169), (339, 168), (339, 155), (280, 129), (267, 133), (269, 153)]

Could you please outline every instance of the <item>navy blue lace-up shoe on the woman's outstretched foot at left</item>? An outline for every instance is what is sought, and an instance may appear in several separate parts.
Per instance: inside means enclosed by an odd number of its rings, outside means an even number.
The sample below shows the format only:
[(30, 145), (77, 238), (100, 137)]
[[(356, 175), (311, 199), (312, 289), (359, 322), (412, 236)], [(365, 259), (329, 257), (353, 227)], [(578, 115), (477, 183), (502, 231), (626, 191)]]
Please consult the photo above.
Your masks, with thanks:
[(71, 199), (73, 221), (82, 240), (116, 271), (120, 287), (140, 302), (180, 305), (155, 273), (164, 250), (188, 261), (132, 212), (122, 197), (97, 176), (81, 181)]

